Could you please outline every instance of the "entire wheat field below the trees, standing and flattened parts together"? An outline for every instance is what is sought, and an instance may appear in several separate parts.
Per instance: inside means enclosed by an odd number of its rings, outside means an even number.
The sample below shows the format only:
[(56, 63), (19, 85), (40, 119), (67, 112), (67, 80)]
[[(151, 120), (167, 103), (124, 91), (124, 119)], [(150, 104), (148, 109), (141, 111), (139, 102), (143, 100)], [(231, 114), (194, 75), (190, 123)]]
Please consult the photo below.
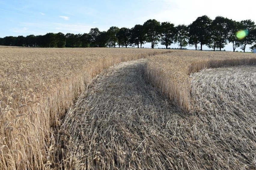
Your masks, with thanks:
[(0, 169), (256, 168), (254, 54), (0, 54)]

